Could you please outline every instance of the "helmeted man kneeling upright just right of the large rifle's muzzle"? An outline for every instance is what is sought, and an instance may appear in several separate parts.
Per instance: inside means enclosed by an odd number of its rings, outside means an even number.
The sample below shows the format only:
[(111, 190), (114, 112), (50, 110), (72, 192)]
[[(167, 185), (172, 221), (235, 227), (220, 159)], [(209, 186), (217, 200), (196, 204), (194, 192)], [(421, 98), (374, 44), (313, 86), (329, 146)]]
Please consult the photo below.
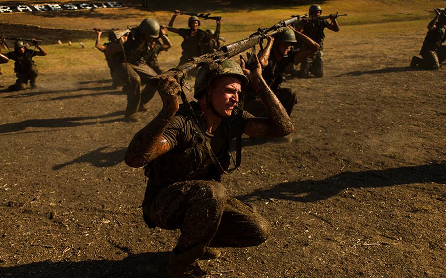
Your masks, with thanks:
[(334, 32), (339, 31), (339, 24), (336, 21), (338, 17), (337, 14), (331, 14), (328, 16), (330, 22), (326, 19), (322, 19), (322, 8), (320, 5), (311, 5), (308, 10), (309, 18), (302, 18), (296, 25), (296, 29), (302, 32), (302, 34), (308, 36), (313, 41), (319, 44), (319, 50), (302, 59), (300, 61), (300, 70), (298, 72), (298, 77), (308, 78), (310, 73), (313, 73), (315, 77), (323, 77), (323, 40), (325, 34), (323, 30), (325, 28), (332, 30)]

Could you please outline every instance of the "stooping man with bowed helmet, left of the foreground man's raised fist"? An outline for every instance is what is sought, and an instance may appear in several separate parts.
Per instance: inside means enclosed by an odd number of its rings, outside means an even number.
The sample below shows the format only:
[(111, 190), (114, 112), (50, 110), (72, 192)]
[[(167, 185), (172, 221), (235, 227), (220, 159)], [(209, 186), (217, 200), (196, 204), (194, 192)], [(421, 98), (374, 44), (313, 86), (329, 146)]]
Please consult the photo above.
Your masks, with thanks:
[(124, 115), (126, 121), (140, 121), (137, 113), (147, 111), (144, 105), (156, 92), (156, 87), (147, 83), (149, 78), (157, 73), (147, 65), (146, 59), (149, 45), (164, 35), (163, 30), (164, 27), (156, 20), (146, 18), (138, 27), (132, 28), (128, 36), (121, 37), (105, 48), (105, 55), (117, 61), (113, 68), (119, 77), (120, 85), (124, 85), (123, 92), (127, 94)]

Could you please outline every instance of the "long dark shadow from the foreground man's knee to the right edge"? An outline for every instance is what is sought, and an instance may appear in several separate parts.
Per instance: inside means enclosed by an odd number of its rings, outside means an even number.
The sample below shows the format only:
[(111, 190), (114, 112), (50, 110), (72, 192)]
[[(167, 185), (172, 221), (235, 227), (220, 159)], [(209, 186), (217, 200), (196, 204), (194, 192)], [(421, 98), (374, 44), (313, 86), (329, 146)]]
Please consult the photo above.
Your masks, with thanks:
[(346, 188), (384, 187), (413, 183), (446, 183), (446, 163), (433, 163), (419, 166), (344, 172), (324, 180), (286, 182), (273, 187), (260, 188), (240, 200), (268, 200), (270, 198), (295, 201), (316, 202), (330, 198)]

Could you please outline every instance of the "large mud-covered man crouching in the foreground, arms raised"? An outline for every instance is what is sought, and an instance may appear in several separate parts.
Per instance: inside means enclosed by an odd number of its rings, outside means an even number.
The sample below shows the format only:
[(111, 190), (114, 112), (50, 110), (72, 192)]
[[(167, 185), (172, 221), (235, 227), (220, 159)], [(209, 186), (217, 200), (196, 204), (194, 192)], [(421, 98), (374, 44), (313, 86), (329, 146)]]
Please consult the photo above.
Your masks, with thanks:
[[(259, 245), (269, 225), (255, 209), (227, 195), (220, 183), (230, 164), (230, 143), (243, 133), (282, 137), (294, 127), (285, 109), (261, 75), (257, 56), (245, 68), (233, 60), (197, 74), (197, 101), (179, 105), (181, 87), (173, 77), (157, 77), (163, 108), (135, 134), (125, 154), (131, 167), (145, 166), (148, 179), (143, 216), (150, 228), (180, 229), (168, 265), (169, 277), (204, 277), (199, 258), (217, 258), (210, 247)], [(260, 95), (267, 117), (255, 117), (238, 107), (248, 82)], [(240, 149), (241, 152), (241, 149)]]

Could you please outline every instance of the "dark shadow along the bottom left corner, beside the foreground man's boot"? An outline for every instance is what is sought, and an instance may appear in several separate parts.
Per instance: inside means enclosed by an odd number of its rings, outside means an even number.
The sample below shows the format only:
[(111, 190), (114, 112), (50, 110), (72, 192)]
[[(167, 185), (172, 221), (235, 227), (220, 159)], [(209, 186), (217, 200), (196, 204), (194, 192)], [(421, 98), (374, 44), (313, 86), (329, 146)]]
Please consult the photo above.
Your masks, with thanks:
[(0, 277), (33, 278), (167, 278), (170, 252), (130, 255), (123, 260), (88, 260), (79, 262), (35, 262), (4, 267)]

